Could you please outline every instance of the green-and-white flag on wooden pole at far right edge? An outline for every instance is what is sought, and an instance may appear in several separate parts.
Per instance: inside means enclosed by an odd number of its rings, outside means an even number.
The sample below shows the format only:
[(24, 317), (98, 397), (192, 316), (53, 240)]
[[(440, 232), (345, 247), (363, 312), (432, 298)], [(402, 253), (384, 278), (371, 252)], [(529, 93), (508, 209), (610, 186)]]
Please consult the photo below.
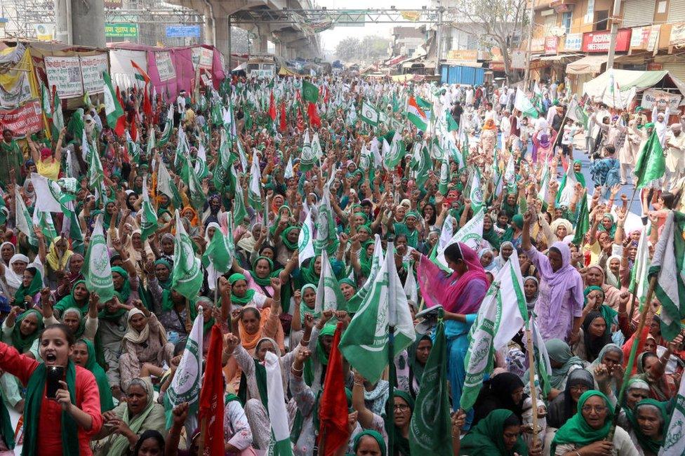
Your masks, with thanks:
[(661, 302), (661, 335), (673, 340), (685, 318), (685, 213), (671, 211), (654, 247), (649, 277), (656, 276), (654, 293)]

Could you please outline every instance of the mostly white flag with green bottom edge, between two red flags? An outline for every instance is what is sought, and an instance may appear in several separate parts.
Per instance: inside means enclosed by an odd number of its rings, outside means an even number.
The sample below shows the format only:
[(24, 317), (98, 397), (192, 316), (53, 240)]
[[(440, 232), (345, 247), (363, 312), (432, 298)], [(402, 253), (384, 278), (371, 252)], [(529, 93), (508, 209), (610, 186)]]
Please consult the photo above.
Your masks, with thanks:
[(269, 396), (268, 408), (272, 438), (268, 453), (272, 456), (291, 456), (293, 449), (290, 441), (286, 396), (283, 391), (281, 361), (279, 361), (278, 356), (267, 351), (264, 357), (264, 368), (266, 370), (266, 387)]

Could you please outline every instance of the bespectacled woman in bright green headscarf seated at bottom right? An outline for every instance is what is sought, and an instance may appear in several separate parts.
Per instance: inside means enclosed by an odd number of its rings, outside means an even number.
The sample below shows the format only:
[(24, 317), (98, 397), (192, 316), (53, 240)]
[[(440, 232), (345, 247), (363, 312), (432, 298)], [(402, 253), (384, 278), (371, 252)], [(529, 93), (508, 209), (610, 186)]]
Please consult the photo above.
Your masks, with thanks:
[(557, 431), (550, 446), (550, 455), (638, 455), (630, 436), (620, 427), (616, 427), (613, 440), (606, 441), (613, 407), (600, 391), (585, 391), (578, 399), (577, 410), (578, 413)]

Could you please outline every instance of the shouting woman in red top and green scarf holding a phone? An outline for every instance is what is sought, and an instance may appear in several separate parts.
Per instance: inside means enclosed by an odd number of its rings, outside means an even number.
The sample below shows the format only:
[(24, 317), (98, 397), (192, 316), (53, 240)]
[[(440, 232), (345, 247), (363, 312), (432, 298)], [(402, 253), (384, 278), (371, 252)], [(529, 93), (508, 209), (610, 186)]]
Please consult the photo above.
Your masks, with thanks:
[(41, 363), (0, 342), (0, 369), (27, 388), (22, 455), (93, 454), (89, 442), (102, 427), (100, 394), (93, 374), (69, 359), (73, 345), (74, 336), (62, 324), (41, 333)]

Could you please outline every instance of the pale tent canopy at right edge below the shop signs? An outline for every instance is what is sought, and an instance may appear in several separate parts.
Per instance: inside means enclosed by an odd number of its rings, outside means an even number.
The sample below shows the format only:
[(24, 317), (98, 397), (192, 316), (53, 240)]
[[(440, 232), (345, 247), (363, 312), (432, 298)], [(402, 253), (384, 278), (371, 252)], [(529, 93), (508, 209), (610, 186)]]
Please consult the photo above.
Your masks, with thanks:
[[(580, 62), (580, 60), (578, 60), (578, 62)], [(575, 65), (578, 62), (573, 62), (572, 64), (569, 64), (569, 66)], [(614, 78), (616, 79), (621, 92), (625, 92), (632, 88), (635, 88), (636, 92), (641, 92), (646, 88), (654, 87), (659, 88), (660, 90), (671, 89), (671, 92), (685, 95), (685, 83), (665, 70), (643, 72), (629, 69), (613, 69), (611, 71), (613, 71)], [(592, 98), (601, 96), (606, 90), (608, 82), (609, 72), (604, 72), (583, 84), (583, 93), (590, 95)]]

